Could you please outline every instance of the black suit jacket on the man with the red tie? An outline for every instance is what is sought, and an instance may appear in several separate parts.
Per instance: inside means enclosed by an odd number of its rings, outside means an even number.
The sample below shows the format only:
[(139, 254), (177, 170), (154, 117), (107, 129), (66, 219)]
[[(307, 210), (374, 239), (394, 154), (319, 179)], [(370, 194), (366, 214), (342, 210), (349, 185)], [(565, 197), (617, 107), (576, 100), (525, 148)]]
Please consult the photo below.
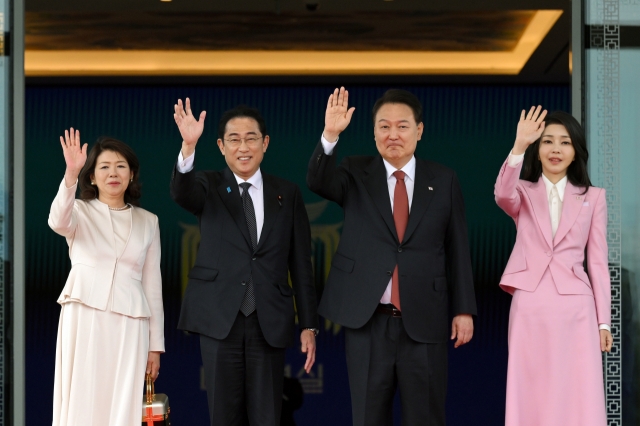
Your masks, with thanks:
[[(442, 342), (453, 315), (476, 314), (462, 192), (453, 170), (416, 157), (409, 223), (398, 242), (387, 175), (380, 155), (347, 157), (319, 143), (307, 184), (344, 209), (344, 226), (319, 312), (350, 328), (373, 315), (398, 265), (402, 319), (419, 342)], [(449, 300), (450, 299), (450, 300)]]

